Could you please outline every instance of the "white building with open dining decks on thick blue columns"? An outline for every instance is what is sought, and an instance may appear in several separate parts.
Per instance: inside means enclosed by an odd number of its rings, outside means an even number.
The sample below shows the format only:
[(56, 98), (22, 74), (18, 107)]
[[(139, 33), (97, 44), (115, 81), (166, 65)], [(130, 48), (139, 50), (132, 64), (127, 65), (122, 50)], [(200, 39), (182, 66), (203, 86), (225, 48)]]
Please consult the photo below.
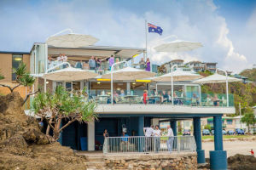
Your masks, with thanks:
[[(177, 136), (178, 120), (193, 120), (194, 137), (198, 163), (205, 162), (204, 150), (201, 148), (201, 118), (213, 117), (215, 129), (215, 150), (210, 152), (212, 163), (215, 166), (226, 166), (226, 152), (223, 150), (222, 140), (222, 116), (235, 113), (234, 99), (230, 94), (230, 103), (227, 105), (225, 94), (217, 94), (220, 105), (213, 102), (206, 102), (207, 96), (213, 94), (201, 94), (201, 85), (186, 81), (174, 81), (173, 99), (171, 98), (171, 79), (167, 82), (150, 81), (148, 77), (140, 80), (115, 80), (113, 78), (114, 102), (111, 102), (110, 80), (101, 78), (110, 73), (108, 59), (115, 56), (115, 62), (127, 60), (132, 65), (132, 59), (136, 54), (143, 54), (144, 48), (119, 48), (104, 46), (88, 46), (83, 48), (60, 48), (48, 46), (45, 43), (34, 43), (27, 62), (32, 75), (37, 77), (34, 89), (44, 87), (54, 91), (55, 87), (61, 85), (69, 91), (79, 90), (86, 87), (89, 99), (94, 99), (98, 106), (96, 113), (99, 121), (89, 124), (73, 122), (61, 133), (60, 143), (70, 146), (74, 150), (81, 150), (81, 139), (86, 145), (86, 150), (96, 150), (98, 145), (103, 145), (102, 133), (108, 129), (110, 136), (118, 137), (125, 132), (129, 136), (143, 136), (143, 127), (154, 124), (155, 119), (167, 119)], [(49, 72), (51, 67), (59, 65), (59, 56), (67, 56), (66, 60), (72, 67), (89, 70), (88, 61), (91, 56), (100, 60), (100, 65), (95, 70), (99, 76), (88, 80), (45, 80), (42, 78)], [(14, 56), (10, 54), (10, 59)], [(4, 60), (3, 60), (4, 61)], [(170, 63), (172, 65), (183, 65), (183, 60), (178, 59)], [(56, 71), (66, 68), (68, 65), (55, 67)], [(118, 65), (116, 70), (124, 68), (125, 65)], [(45, 83), (44, 83), (45, 82)], [(158, 88), (156, 87), (156, 84)], [(156, 89), (157, 88), (157, 89)], [(148, 99), (143, 100), (143, 90), (148, 90)], [(62, 126), (67, 122), (62, 122)], [(184, 125), (185, 126), (185, 125)]]

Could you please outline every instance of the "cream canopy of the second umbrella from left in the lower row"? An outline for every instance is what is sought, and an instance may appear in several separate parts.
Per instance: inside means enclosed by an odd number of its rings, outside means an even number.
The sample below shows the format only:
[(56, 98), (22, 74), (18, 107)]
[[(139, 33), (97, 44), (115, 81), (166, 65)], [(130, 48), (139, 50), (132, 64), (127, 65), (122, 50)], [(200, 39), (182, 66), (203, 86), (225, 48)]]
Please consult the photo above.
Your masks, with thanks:
[[(135, 69), (130, 66), (120, 69), (118, 71), (113, 71), (113, 80), (136, 80), (148, 77), (154, 77), (155, 73), (151, 71), (143, 71), (140, 69)], [(111, 73), (102, 75), (102, 78), (110, 79)]]

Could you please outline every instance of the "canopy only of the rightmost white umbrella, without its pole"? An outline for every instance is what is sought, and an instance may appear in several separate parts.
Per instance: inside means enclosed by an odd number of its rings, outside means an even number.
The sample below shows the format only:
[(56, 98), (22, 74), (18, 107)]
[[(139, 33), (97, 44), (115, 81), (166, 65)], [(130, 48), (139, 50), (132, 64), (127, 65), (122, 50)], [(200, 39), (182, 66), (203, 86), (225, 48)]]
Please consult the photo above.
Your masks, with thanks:
[[(241, 82), (241, 79), (228, 77), (228, 82)], [(207, 83), (223, 83), (226, 82), (226, 76), (220, 75), (218, 73), (214, 73), (212, 76), (204, 77), (199, 80), (195, 80), (195, 83), (199, 84), (207, 84)]]

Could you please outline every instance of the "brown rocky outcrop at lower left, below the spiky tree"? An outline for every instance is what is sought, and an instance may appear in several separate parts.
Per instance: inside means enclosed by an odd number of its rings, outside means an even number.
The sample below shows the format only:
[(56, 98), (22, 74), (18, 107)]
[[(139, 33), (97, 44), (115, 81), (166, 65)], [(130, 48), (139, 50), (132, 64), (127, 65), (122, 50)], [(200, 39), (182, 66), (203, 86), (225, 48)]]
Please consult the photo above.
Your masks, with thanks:
[(0, 169), (86, 169), (83, 156), (49, 143), (22, 102), (17, 92), (0, 96)]

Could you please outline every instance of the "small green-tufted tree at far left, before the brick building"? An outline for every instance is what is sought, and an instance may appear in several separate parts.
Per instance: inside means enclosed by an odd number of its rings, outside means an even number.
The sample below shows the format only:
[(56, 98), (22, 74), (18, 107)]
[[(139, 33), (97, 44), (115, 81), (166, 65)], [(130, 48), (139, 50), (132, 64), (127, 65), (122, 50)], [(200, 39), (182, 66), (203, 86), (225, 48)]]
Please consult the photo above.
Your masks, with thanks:
[[(15, 88), (18, 88), (21, 85), (23, 85), (25, 87), (32, 87), (33, 83), (35, 82), (35, 78), (30, 75), (29, 71), (26, 71), (26, 64), (21, 62), (19, 67), (17, 69), (14, 69), (13, 72), (16, 75), (15, 82), (17, 82), (17, 85), (13, 88), (6, 84), (0, 84), (0, 86), (9, 88), (11, 93), (14, 92)], [(0, 80), (2, 80), (2, 79), (4, 79), (4, 77), (3, 77), (3, 75), (0, 74)], [(37, 93), (38, 93), (38, 91), (27, 94), (22, 105), (24, 105), (26, 103), (26, 100), (28, 99), (29, 96), (31, 96), (32, 94), (37, 94)]]

